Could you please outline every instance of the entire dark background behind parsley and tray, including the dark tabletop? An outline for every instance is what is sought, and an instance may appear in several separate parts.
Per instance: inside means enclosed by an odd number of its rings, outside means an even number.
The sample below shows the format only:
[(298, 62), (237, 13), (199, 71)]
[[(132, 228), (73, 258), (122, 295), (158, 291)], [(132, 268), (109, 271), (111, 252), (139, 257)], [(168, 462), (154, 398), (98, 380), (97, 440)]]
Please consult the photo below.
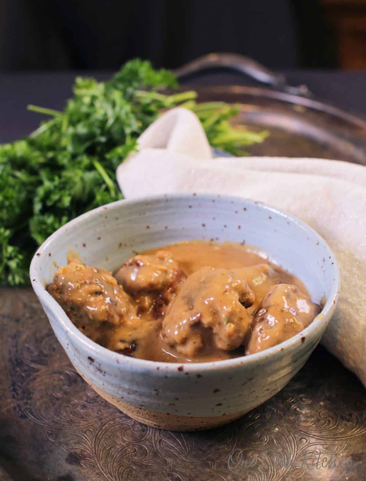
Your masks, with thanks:
[(76, 75), (105, 80), (136, 56), (175, 68), (213, 51), (366, 114), (366, 0), (0, 0), (0, 143), (38, 126), (27, 104), (62, 109)]

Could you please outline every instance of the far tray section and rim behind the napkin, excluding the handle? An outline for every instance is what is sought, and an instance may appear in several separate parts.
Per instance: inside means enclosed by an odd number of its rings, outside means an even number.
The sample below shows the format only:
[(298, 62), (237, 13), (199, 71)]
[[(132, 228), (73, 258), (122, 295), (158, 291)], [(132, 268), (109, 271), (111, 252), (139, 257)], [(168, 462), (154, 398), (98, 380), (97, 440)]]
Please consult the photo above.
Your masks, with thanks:
[(197, 90), (200, 101), (238, 103), (236, 123), (270, 132), (263, 143), (245, 148), (250, 155), (318, 157), (366, 165), (366, 127), (321, 110), (323, 104), (318, 101), (257, 87), (190, 87)]

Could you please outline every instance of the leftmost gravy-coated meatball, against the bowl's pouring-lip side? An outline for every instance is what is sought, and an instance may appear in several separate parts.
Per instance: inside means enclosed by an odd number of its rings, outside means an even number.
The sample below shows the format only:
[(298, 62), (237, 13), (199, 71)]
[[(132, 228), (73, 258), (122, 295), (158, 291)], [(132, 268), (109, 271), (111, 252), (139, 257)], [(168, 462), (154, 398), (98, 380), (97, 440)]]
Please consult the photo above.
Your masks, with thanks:
[(131, 300), (110, 271), (76, 261), (61, 267), (47, 291), (75, 326), (93, 341), (136, 316)]

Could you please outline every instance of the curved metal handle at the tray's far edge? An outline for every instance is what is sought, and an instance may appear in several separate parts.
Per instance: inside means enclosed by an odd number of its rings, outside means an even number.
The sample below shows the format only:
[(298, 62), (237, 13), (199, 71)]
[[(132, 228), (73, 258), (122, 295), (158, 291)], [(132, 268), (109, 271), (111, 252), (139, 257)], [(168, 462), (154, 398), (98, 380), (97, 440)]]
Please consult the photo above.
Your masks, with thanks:
[(276, 90), (307, 97), (311, 95), (306, 85), (288, 85), (286, 77), (278, 75), (255, 60), (237, 53), (209, 53), (186, 63), (174, 71), (179, 80), (185, 76), (200, 76), (206, 70), (226, 69), (247, 75), (258, 82)]

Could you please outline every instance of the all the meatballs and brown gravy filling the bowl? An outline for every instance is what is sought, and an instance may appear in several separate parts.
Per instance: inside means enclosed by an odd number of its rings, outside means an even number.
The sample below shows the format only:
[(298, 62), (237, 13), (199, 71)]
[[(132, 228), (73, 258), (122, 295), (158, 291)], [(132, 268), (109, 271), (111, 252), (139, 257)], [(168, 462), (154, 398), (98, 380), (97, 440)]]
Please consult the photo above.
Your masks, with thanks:
[(320, 312), (300, 279), (233, 242), (152, 249), (114, 275), (74, 259), (47, 289), (93, 341), (164, 362), (259, 352), (300, 332)]

